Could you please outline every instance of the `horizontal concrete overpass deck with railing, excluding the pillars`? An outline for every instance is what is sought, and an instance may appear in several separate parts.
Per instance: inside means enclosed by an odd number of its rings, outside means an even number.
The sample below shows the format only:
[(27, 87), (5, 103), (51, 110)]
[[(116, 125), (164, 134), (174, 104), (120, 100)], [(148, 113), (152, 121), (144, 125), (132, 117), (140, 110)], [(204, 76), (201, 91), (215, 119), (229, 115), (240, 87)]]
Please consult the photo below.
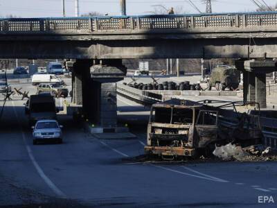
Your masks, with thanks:
[(1, 58), (276, 58), (277, 12), (0, 19)]

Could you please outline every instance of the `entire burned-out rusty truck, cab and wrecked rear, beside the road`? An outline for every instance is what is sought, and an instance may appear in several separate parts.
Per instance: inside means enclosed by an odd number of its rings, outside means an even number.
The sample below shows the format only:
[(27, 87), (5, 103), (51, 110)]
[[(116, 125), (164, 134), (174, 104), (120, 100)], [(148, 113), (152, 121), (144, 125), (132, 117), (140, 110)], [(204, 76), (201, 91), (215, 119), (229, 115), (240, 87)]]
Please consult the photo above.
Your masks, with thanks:
[(231, 141), (258, 143), (262, 137), (258, 119), (231, 110), (235, 105), (230, 103), (215, 107), (206, 101), (172, 99), (152, 105), (145, 154), (163, 159), (196, 157)]

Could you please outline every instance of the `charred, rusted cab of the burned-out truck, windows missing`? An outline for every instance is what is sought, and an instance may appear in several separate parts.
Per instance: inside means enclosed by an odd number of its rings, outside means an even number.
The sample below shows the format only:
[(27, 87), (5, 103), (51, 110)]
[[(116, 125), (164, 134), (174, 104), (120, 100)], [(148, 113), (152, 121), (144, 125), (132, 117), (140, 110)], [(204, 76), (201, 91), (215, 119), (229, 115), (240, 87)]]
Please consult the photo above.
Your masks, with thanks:
[(218, 140), (218, 112), (201, 103), (173, 99), (152, 105), (145, 153), (163, 159), (195, 157)]

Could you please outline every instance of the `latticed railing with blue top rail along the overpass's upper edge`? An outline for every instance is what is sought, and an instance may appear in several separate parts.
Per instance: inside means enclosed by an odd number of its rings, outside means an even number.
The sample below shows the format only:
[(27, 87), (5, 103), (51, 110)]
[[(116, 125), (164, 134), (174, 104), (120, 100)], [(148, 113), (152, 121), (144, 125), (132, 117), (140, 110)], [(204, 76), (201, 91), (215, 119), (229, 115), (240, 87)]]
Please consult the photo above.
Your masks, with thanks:
[(0, 19), (0, 33), (2, 34), (182, 28), (274, 28), (276, 26), (277, 12)]

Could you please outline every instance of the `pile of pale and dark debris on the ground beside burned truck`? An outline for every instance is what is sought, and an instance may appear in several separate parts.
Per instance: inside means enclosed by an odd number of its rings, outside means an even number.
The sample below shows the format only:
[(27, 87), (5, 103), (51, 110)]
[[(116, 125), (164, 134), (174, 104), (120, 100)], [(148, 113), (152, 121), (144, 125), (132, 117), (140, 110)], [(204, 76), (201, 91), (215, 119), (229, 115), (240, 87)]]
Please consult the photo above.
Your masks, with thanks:
[(213, 155), (224, 161), (237, 160), (247, 162), (277, 160), (277, 150), (262, 144), (242, 148), (242, 146), (229, 143), (225, 146), (216, 147)]

